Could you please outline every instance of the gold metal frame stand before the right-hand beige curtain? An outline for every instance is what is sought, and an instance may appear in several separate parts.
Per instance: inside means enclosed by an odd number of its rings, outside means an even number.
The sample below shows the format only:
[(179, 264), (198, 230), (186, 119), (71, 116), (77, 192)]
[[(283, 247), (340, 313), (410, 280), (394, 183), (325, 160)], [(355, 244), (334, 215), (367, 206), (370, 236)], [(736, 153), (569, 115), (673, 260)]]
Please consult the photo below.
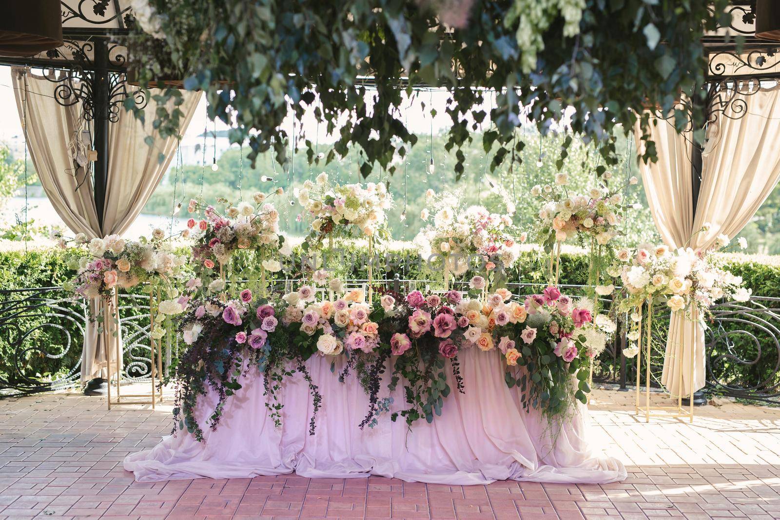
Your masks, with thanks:
[[(647, 320), (644, 320), (644, 334), (646, 335), (645, 344), (642, 345), (642, 305), (636, 307), (635, 312), (639, 314), (639, 331), (640, 336), (636, 340), (636, 346), (639, 348), (639, 352), (636, 354), (636, 415), (644, 414), (645, 422), (649, 423), (651, 417), (667, 417), (667, 418), (688, 418), (693, 423), (693, 359), (694, 359), (694, 345), (691, 345), (690, 349), (690, 407), (686, 411), (683, 409), (683, 345), (679, 345), (677, 352), (679, 356), (676, 356), (675, 363), (677, 363), (677, 388), (679, 395), (677, 396), (677, 405), (674, 406), (651, 406), (650, 404), (650, 363), (651, 363), (651, 349), (652, 349), (652, 324), (653, 324), (653, 300), (647, 300)], [(679, 312), (679, 311), (678, 311)], [(645, 380), (644, 380), (644, 394), (645, 404), (640, 405), (640, 394), (642, 393), (642, 387), (640, 384), (640, 377), (642, 374), (642, 351), (644, 347), (645, 353)], [(668, 392), (664, 392), (668, 394)], [(658, 413), (654, 413), (658, 412)]]

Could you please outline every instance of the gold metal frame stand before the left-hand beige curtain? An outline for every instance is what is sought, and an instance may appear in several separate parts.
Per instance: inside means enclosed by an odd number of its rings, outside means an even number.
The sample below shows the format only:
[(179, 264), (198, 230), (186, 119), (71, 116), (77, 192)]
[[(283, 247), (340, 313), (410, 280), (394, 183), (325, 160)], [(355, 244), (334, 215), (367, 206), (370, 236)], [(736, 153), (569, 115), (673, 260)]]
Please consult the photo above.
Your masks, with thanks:
[[(115, 320), (117, 323), (115, 326), (119, 329), (119, 295), (116, 290), (112, 295), (114, 302), (114, 310), (116, 313)], [(151, 405), (151, 409), (154, 410), (154, 406), (158, 401), (163, 400), (162, 385), (160, 375), (162, 373), (162, 341), (154, 339), (151, 336), (154, 331), (154, 314), (157, 313), (157, 304), (160, 299), (160, 289), (156, 290), (151, 285), (149, 286), (149, 360), (151, 362), (151, 392), (149, 394), (122, 394), (122, 341), (116, 342), (116, 357), (114, 366), (112, 367), (111, 356), (108, 356), (108, 388), (106, 392), (106, 401), (108, 403), (108, 409), (112, 406), (126, 406), (126, 405)], [(105, 324), (104, 324), (105, 326)], [(113, 327), (114, 324), (111, 324)], [(109, 329), (110, 331), (110, 329)], [(112, 372), (113, 369), (113, 372)], [(116, 397), (112, 398), (111, 385), (112, 379), (114, 380)], [(127, 400), (129, 399), (129, 401)]]

